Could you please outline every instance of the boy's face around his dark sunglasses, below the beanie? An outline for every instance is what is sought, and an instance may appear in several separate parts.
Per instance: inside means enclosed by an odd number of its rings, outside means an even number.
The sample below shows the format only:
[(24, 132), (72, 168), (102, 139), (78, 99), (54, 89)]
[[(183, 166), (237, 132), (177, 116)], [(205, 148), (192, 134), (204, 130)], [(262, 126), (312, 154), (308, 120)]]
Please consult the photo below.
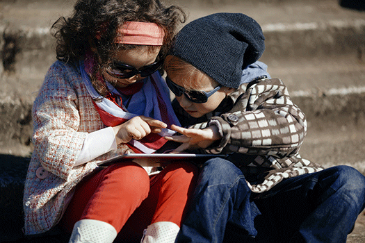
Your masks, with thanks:
[[(208, 78), (205, 75), (194, 75), (190, 76), (190, 78), (184, 78), (173, 74), (170, 76), (168, 73), (168, 77), (173, 83), (184, 87), (185, 90), (202, 90), (209, 92), (219, 85), (216, 81), (211, 80), (211, 78)], [(232, 91), (232, 88), (221, 87), (220, 90), (213, 93), (205, 103), (194, 103), (187, 99), (184, 94), (176, 97), (176, 99), (179, 101), (180, 106), (184, 108), (190, 116), (197, 118), (216, 110), (227, 94)]]

